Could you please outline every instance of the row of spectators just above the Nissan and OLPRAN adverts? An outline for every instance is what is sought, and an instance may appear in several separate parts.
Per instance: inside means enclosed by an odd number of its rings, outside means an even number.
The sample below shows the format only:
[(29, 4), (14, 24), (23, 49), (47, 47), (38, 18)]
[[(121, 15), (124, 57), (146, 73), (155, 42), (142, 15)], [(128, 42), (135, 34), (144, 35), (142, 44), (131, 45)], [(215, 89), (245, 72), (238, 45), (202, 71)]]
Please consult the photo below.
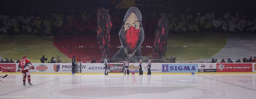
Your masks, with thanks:
[[(217, 61), (217, 59), (214, 60), (214, 58), (212, 58), (211, 63), (219, 63), (219, 62)], [(234, 63), (234, 62), (230, 58), (228, 58), (227, 62), (225, 61), (224, 58), (222, 58), (220, 63)], [(236, 63), (241, 63), (241, 60), (240, 59), (236, 59)], [(256, 63), (256, 57), (253, 57), (253, 59), (252, 59), (252, 56), (250, 56), (249, 59), (246, 59), (244, 57), (243, 63)]]

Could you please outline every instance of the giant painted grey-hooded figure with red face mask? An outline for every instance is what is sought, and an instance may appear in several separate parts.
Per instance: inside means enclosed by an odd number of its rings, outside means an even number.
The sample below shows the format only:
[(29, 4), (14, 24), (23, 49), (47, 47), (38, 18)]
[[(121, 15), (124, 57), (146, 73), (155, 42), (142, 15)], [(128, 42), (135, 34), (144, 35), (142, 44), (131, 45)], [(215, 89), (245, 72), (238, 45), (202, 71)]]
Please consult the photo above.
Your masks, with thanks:
[(122, 48), (111, 61), (124, 61), (123, 57), (127, 57), (129, 61), (137, 62), (139, 57), (142, 57), (140, 47), (145, 37), (141, 19), (141, 12), (137, 7), (132, 6), (126, 11), (122, 28), (118, 32)]

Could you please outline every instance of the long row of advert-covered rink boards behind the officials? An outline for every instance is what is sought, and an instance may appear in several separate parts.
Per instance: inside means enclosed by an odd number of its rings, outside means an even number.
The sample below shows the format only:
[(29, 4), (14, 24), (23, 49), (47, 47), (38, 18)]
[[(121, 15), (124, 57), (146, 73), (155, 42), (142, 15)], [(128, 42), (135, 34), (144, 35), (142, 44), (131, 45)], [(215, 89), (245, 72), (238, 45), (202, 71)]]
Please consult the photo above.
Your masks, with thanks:
[[(63, 74), (72, 72), (71, 63), (35, 63), (34, 70), (30, 70), (31, 73), (42, 74)], [(0, 63), (0, 68), (3, 68), (2, 73), (16, 72), (18, 70), (18, 64), (16, 63)], [(76, 68), (76, 74), (103, 74), (105, 67), (102, 63), (82, 63), (78, 65), (81, 67)], [(29, 67), (30, 68), (30, 67)], [(129, 64), (130, 73), (139, 72), (138, 63)], [(153, 74), (191, 74), (191, 73), (256, 73), (256, 63), (152, 63), (151, 72)], [(142, 64), (142, 71), (144, 74), (148, 72), (147, 63)], [(111, 74), (124, 73), (124, 67), (122, 63), (111, 63), (108, 66), (108, 72)]]

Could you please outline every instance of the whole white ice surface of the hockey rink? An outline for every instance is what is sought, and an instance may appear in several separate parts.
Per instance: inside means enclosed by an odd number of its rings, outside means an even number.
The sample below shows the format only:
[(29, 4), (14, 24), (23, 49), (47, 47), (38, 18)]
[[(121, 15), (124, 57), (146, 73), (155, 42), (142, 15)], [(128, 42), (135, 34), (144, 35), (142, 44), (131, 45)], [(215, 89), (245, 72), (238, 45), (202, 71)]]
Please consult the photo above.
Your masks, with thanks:
[(0, 78), (0, 99), (256, 99), (256, 74), (32, 74), (33, 87), (22, 78)]

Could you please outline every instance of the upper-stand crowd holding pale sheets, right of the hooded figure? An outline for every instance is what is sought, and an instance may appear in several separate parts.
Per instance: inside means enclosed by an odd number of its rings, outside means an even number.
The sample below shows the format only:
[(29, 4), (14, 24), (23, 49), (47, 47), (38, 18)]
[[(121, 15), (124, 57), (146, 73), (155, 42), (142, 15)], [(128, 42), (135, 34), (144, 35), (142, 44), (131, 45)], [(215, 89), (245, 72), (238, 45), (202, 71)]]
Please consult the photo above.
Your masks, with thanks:
[(256, 33), (256, 19), (254, 16), (244, 14), (215, 15), (206, 13), (204, 15), (175, 15), (169, 14), (169, 28), (174, 33), (193, 33), (193, 32), (223, 32), (223, 33)]

